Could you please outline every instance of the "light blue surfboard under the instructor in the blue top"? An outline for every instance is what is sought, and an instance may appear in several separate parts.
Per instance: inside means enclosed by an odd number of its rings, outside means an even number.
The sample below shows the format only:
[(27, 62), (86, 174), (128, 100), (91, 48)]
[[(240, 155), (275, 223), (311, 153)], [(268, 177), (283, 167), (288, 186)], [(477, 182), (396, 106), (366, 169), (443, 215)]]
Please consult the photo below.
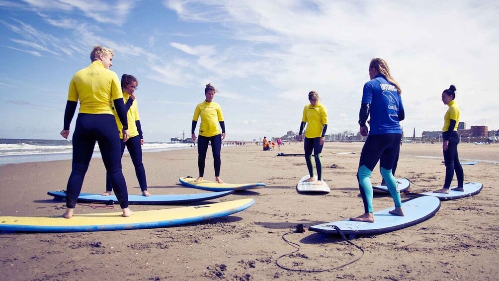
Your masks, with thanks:
[(346, 219), (311, 226), (308, 230), (327, 234), (339, 234), (339, 231), (336, 229), (338, 228), (344, 235), (376, 235), (392, 232), (417, 225), (433, 217), (440, 209), (440, 200), (430, 196), (417, 197), (402, 202), (402, 208), (404, 209), (404, 217), (390, 215), (388, 211), (394, 209), (394, 207), (391, 207), (375, 212), (374, 223), (354, 222)]

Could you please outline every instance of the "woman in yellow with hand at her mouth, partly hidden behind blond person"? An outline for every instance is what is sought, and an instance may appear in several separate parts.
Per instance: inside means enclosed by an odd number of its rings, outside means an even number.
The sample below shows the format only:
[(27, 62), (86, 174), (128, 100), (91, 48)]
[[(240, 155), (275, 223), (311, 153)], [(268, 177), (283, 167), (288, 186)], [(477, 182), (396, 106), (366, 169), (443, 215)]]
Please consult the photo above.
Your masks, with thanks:
[[(135, 167), (135, 175), (139, 181), (140, 190), (143, 196), (151, 196), (147, 192), (146, 171), (144, 164), (142, 164), (142, 145), (144, 145), (144, 137), (142, 136), (142, 127), (140, 125), (139, 110), (137, 108), (137, 101), (135, 100), (135, 90), (139, 82), (137, 78), (129, 74), (121, 76), (121, 90), (123, 91), (123, 100), (125, 102), (125, 110), (127, 111), (128, 131), (130, 138), (126, 142), (121, 142), (121, 157), (125, 152), (125, 146), (132, 158), (133, 166)], [(118, 115), (114, 111), (116, 123), (118, 124), (118, 131), (120, 131), (120, 139), (123, 139), (121, 133), (121, 122), (119, 122)], [(102, 193), (103, 196), (111, 195), (113, 185), (109, 173), (106, 173), (106, 191)]]

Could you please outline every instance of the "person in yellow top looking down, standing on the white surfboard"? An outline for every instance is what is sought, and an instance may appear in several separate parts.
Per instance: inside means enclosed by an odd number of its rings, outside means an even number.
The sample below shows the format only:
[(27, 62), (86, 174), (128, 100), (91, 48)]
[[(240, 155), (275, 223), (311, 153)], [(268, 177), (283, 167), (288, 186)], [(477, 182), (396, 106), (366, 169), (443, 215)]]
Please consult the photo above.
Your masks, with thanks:
[[(314, 182), (313, 185), (321, 185), (322, 163), (320, 162), (320, 154), (324, 146), (324, 138), (327, 130), (327, 109), (319, 102), (319, 94), (315, 91), (308, 93), (308, 100), (310, 103), (303, 108), (298, 141), (301, 142), (303, 128), (308, 122), (303, 148), (305, 150), (305, 162), (307, 163), (310, 178), (305, 180), (305, 182)], [(314, 154), (315, 165), (317, 166), (317, 181), (313, 175), (312, 153)]]

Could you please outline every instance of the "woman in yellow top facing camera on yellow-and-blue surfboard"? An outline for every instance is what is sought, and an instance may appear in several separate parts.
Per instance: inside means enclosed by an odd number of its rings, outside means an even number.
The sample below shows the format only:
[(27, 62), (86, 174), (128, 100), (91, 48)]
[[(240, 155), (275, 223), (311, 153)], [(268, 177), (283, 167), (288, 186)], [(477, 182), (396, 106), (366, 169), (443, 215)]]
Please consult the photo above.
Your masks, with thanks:
[[(206, 99), (196, 106), (196, 109), (194, 110), (194, 117), (192, 119), (192, 139), (193, 141), (196, 141), (196, 134), (194, 131), (196, 130), (198, 119), (201, 116), (198, 139), (199, 178), (194, 181), (196, 183), (202, 181), (205, 174), (206, 152), (208, 151), (209, 143), (211, 143), (213, 152), (215, 180), (218, 183), (224, 183), (220, 179), (220, 166), (222, 164), (220, 152), (222, 150), (222, 140), (225, 139), (225, 122), (220, 104), (213, 101), (216, 92), (217, 90), (211, 84), (206, 85)], [(218, 126), (219, 123), (222, 128), (222, 134), (220, 133), (220, 128)]]

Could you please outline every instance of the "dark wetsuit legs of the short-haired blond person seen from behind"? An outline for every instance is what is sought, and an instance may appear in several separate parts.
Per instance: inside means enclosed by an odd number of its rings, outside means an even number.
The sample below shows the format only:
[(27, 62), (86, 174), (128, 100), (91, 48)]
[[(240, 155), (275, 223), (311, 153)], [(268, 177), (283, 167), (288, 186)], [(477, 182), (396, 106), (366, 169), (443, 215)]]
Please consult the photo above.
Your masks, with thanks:
[(74, 208), (92, 159), (95, 142), (111, 178), (120, 207), (128, 208), (128, 192), (121, 171), (121, 145), (116, 120), (111, 114), (78, 114), (73, 133), (73, 164), (66, 187), (66, 206)]

